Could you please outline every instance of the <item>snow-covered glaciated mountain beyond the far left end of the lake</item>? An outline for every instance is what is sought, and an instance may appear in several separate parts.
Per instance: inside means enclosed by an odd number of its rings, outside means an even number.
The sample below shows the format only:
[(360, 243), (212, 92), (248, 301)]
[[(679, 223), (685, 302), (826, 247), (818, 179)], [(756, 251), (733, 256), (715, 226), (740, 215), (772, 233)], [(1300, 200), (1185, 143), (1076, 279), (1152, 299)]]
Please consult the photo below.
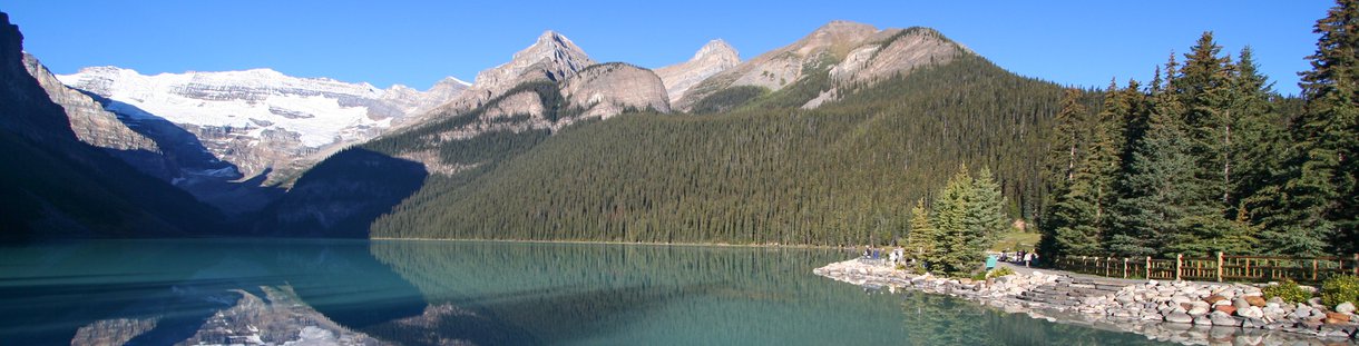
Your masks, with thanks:
[(382, 133), (394, 121), (442, 104), (467, 88), (444, 79), (429, 91), (287, 76), (272, 69), (147, 76), (116, 66), (57, 76), (98, 96), (129, 121), (163, 119), (194, 134), (241, 178), (270, 180), (323, 155)]

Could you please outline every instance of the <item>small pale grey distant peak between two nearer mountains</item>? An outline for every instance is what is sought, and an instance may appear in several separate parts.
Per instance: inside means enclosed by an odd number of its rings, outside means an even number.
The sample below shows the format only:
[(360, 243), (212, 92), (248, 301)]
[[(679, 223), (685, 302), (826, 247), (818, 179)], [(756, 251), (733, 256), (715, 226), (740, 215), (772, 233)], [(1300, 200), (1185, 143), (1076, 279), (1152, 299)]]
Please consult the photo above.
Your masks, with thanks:
[(741, 64), (741, 54), (726, 41), (713, 39), (699, 49), (689, 61), (655, 69), (666, 84), (671, 102), (684, 99), (685, 92), (700, 81)]

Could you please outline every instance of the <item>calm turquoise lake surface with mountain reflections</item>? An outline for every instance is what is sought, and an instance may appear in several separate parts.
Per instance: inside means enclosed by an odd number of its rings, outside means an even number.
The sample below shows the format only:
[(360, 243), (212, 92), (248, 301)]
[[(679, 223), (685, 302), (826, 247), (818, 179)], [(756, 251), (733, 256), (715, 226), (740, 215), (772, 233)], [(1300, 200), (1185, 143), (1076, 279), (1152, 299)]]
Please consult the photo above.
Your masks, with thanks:
[(885, 293), (803, 248), (397, 240), (0, 247), (0, 345), (1151, 345)]

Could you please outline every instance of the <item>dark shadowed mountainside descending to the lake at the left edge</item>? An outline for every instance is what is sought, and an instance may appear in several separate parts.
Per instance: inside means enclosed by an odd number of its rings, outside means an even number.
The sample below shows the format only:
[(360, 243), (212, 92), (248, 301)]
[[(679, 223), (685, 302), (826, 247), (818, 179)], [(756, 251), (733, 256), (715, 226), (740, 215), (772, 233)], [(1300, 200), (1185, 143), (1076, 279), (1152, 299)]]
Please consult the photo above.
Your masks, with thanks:
[(0, 240), (219, 231), (211, 208), (82, 142), (23, 60), (23, 35), (0, 12)]

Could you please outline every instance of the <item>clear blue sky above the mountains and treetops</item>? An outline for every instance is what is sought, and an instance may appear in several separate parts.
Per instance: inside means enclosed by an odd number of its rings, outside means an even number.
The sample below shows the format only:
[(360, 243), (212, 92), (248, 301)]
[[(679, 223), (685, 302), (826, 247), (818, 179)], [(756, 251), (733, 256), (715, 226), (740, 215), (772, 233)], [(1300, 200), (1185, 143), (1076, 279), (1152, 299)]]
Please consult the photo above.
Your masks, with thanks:
[(1150, 79), (1212, 30), (1256, 50), (1276, 90), (1296, 94), (1311, 26), (1332, 1), (67, 1), (8, 0), (24, 47), (57, 73), (273, 68), (287, 75), (427, 88), (472, 81), (544, 30), (598, 61), (655, 68), (723, 38), (750, 58), (845, 19), (927, 26), (1025, 76), (1072, 85)]

